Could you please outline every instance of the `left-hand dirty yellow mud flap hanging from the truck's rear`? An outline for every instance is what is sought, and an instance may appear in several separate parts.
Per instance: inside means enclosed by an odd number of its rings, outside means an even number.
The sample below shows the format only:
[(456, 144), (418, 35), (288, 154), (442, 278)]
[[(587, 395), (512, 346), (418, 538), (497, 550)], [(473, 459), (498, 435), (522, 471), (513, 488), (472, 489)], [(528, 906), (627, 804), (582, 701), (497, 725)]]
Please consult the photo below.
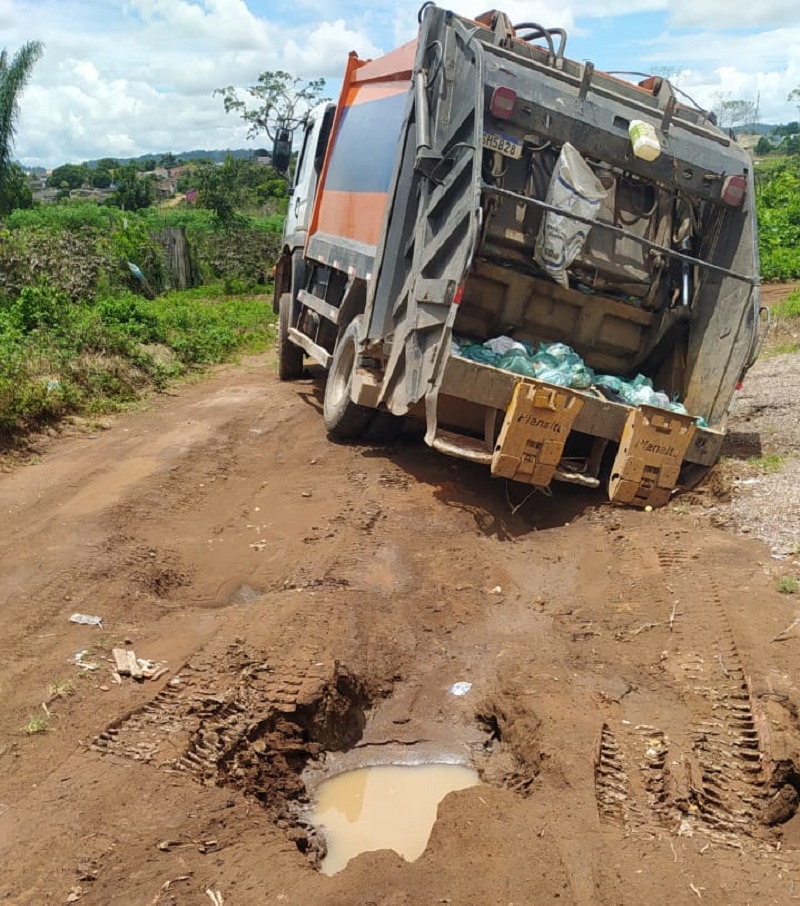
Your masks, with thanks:
[(492, 475), (547, 487), (564, 452), (580, 396), (562, 387), (517, 384), (492, 456)]

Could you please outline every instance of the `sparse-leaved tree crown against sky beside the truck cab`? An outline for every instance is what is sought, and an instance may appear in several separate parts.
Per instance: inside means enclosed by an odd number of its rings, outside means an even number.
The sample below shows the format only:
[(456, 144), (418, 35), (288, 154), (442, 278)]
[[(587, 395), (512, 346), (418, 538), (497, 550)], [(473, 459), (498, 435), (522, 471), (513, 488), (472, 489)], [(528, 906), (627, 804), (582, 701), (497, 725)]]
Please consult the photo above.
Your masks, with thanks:
[(217, 88), (215, 95), (222, 95), (225, 112), (234, 111), (247, 123), (247, 137), (254, 138), (266, 132), (275, 138), (277, 129), (296, 129), (305, 121), (309, 111), (325, 100), (322, 92), (325, 79), (304, 82), (288, 72), (262, 72), (255, 85), (244, 89), (252, 99), (239, 97), (233, 85)]

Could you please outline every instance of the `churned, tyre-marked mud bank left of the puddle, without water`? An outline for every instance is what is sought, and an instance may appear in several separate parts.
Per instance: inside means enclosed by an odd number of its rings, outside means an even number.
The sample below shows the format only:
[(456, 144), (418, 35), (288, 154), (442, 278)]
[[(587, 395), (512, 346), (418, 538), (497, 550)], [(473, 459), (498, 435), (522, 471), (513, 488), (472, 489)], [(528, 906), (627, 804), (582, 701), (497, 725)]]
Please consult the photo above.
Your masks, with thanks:
[(338, 662), (279, 667), (233, 645), (184, 666), (92, 748), (252, 796), (316, 864), (303, 771), (351, 749), (370, 706), (366, 684)]

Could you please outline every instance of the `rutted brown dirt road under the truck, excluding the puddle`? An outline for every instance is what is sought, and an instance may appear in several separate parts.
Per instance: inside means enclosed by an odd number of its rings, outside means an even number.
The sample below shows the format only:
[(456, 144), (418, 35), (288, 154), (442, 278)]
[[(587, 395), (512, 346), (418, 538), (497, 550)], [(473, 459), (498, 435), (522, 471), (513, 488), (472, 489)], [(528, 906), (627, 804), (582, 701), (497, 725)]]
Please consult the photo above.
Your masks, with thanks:
[[(800, 899), (768, 548), (331, 444), (319, 389), (249, 360), (0, 475), (0, 901)], [(419, 860), (315, 870), (310, 768), (430, 758), (483, 782)]]

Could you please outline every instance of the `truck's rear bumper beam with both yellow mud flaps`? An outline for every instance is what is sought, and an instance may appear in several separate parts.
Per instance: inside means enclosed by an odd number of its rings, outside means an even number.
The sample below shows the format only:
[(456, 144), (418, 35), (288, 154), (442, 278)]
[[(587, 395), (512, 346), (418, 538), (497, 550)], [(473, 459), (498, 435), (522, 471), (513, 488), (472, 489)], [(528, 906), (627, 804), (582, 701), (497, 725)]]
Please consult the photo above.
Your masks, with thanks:
[[(476, 438), (437, 427), (429, 442), (441, 452), (529, 484), (566, 480), (597, 486), (602, 451), (616, 444), (609, 496), (640, 506), (665, 503), (683, 466), (712, 466), (724, 438), (689, 416), (611, 402), (594, 391), (555, 387), (459, 356), (446, 363), (439, 389), (440, 400), (445, 397), (484, 407), (486, 431)], [(503, 425), (496, 435), (498, 413)], [(595, 461), (580, 472), (561, 461), (572, 432), (596, 439)]]

